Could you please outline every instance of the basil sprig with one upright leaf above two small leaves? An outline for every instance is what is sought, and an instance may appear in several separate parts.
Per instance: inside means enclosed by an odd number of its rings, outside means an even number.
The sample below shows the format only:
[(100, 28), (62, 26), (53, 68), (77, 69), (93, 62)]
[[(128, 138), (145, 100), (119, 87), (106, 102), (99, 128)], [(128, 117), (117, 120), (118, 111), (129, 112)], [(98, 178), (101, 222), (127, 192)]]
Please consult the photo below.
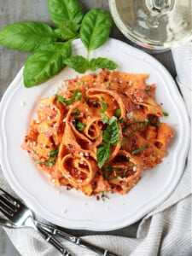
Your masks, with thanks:
[[(90, 50), (96, 49), (108, 40), (112, 26), (112, 18), (103, 9), (91, 9), (86, 15), (80, 28), (80, 38), (87, 49), (87, 58), (83, 56), (73, 56), (66, 60), (69, 67), (79, 73), (84, 73), (87, 69), (96, 71), (98, 68), (113, 70), (118, 65), (107, 58), (96, 58), (89, 60)], [(79, 62), (82, 61), (82, 66)]]

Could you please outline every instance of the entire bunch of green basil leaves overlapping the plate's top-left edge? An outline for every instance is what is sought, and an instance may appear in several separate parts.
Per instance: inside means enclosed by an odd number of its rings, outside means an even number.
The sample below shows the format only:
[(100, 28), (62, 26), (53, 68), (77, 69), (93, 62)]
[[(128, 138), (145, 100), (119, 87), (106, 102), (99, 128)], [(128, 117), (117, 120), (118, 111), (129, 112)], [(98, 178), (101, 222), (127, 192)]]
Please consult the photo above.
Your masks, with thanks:
[[(43, 22), (25, 21), (5, 26), (0, 32), (0, 44), (12, 49), (32, 52), (25, 62), (24, 85), (44, 83), (68, 65), (79, 73), (87, 69), (115, 69), (117, 64), (99, 57), (89, 60), (90, 50), (108, 40), (112, 18), (102, 9), (91, 9), (86, 15), (79, 0), (47, 0), (53, 30)], [(81, 38), (88, 51), (87, 58), (71, 56), (70, 43)], [(68, 41), (63, 43), (62, 41)]]

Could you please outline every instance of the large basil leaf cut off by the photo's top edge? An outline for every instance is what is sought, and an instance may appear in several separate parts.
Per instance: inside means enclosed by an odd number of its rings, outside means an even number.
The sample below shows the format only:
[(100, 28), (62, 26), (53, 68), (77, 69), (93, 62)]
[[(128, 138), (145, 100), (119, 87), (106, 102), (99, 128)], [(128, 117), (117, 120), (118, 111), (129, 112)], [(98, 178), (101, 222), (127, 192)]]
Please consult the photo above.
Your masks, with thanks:
[(84, 17), (84, 10), (78, 0), (47, 0), (47, 3), (50, 20), (56, 26), (66, 20), (80, 24)]

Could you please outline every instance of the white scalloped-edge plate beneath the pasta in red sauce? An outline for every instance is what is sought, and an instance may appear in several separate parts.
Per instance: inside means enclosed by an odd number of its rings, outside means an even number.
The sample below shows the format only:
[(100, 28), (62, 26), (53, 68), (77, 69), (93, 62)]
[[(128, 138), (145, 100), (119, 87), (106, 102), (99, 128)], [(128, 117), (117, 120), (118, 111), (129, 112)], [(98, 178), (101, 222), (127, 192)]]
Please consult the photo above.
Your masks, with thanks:
[[(73, 54), (86, 55), (79, 40), (73, 42)], [(3, 96), (0, 108), (0, 155), (3, 172), (10, 185), (26, 204), (54, 224), (72, 229), (115, 230), (136, 222), (157, 207), (172, 193), (189, 147), (189, 119), (183, 99), (171, 75), (160, 62), (141, 50), (115, 39), (94, 50), (90, 57), (107, 57), (119, 64), (119, 71), (149, 73), (148, 84), (157, 84), (156, 102), (163, 102), (168, 117), (161, 118), (175, 131), (163, 163), (143, 172), (142, 179), (126, 195), (109, 195), (110, 199), (96, 201), (81, 192), (57, 188), (43, 172), (33, 165), (28, 154), (20, 148), (39, 98), (50, 96), (62, 79), (77, 73), (66, 68), (44, 85), (26, 89), (22, 69)], [(26, 102), (21, 107), (20, 103)]]

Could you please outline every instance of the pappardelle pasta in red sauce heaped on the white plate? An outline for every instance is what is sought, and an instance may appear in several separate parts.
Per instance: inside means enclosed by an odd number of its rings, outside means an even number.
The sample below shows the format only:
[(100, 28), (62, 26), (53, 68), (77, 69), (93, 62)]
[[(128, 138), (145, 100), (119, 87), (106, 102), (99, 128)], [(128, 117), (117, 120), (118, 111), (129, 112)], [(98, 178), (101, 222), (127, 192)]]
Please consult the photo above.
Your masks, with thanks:
[(22, 148), (55, 185), (125, 194), (160, 164), (173, 135), (147, 78), (102, 70), (66, 80), (67, 90), (39, 100)]

